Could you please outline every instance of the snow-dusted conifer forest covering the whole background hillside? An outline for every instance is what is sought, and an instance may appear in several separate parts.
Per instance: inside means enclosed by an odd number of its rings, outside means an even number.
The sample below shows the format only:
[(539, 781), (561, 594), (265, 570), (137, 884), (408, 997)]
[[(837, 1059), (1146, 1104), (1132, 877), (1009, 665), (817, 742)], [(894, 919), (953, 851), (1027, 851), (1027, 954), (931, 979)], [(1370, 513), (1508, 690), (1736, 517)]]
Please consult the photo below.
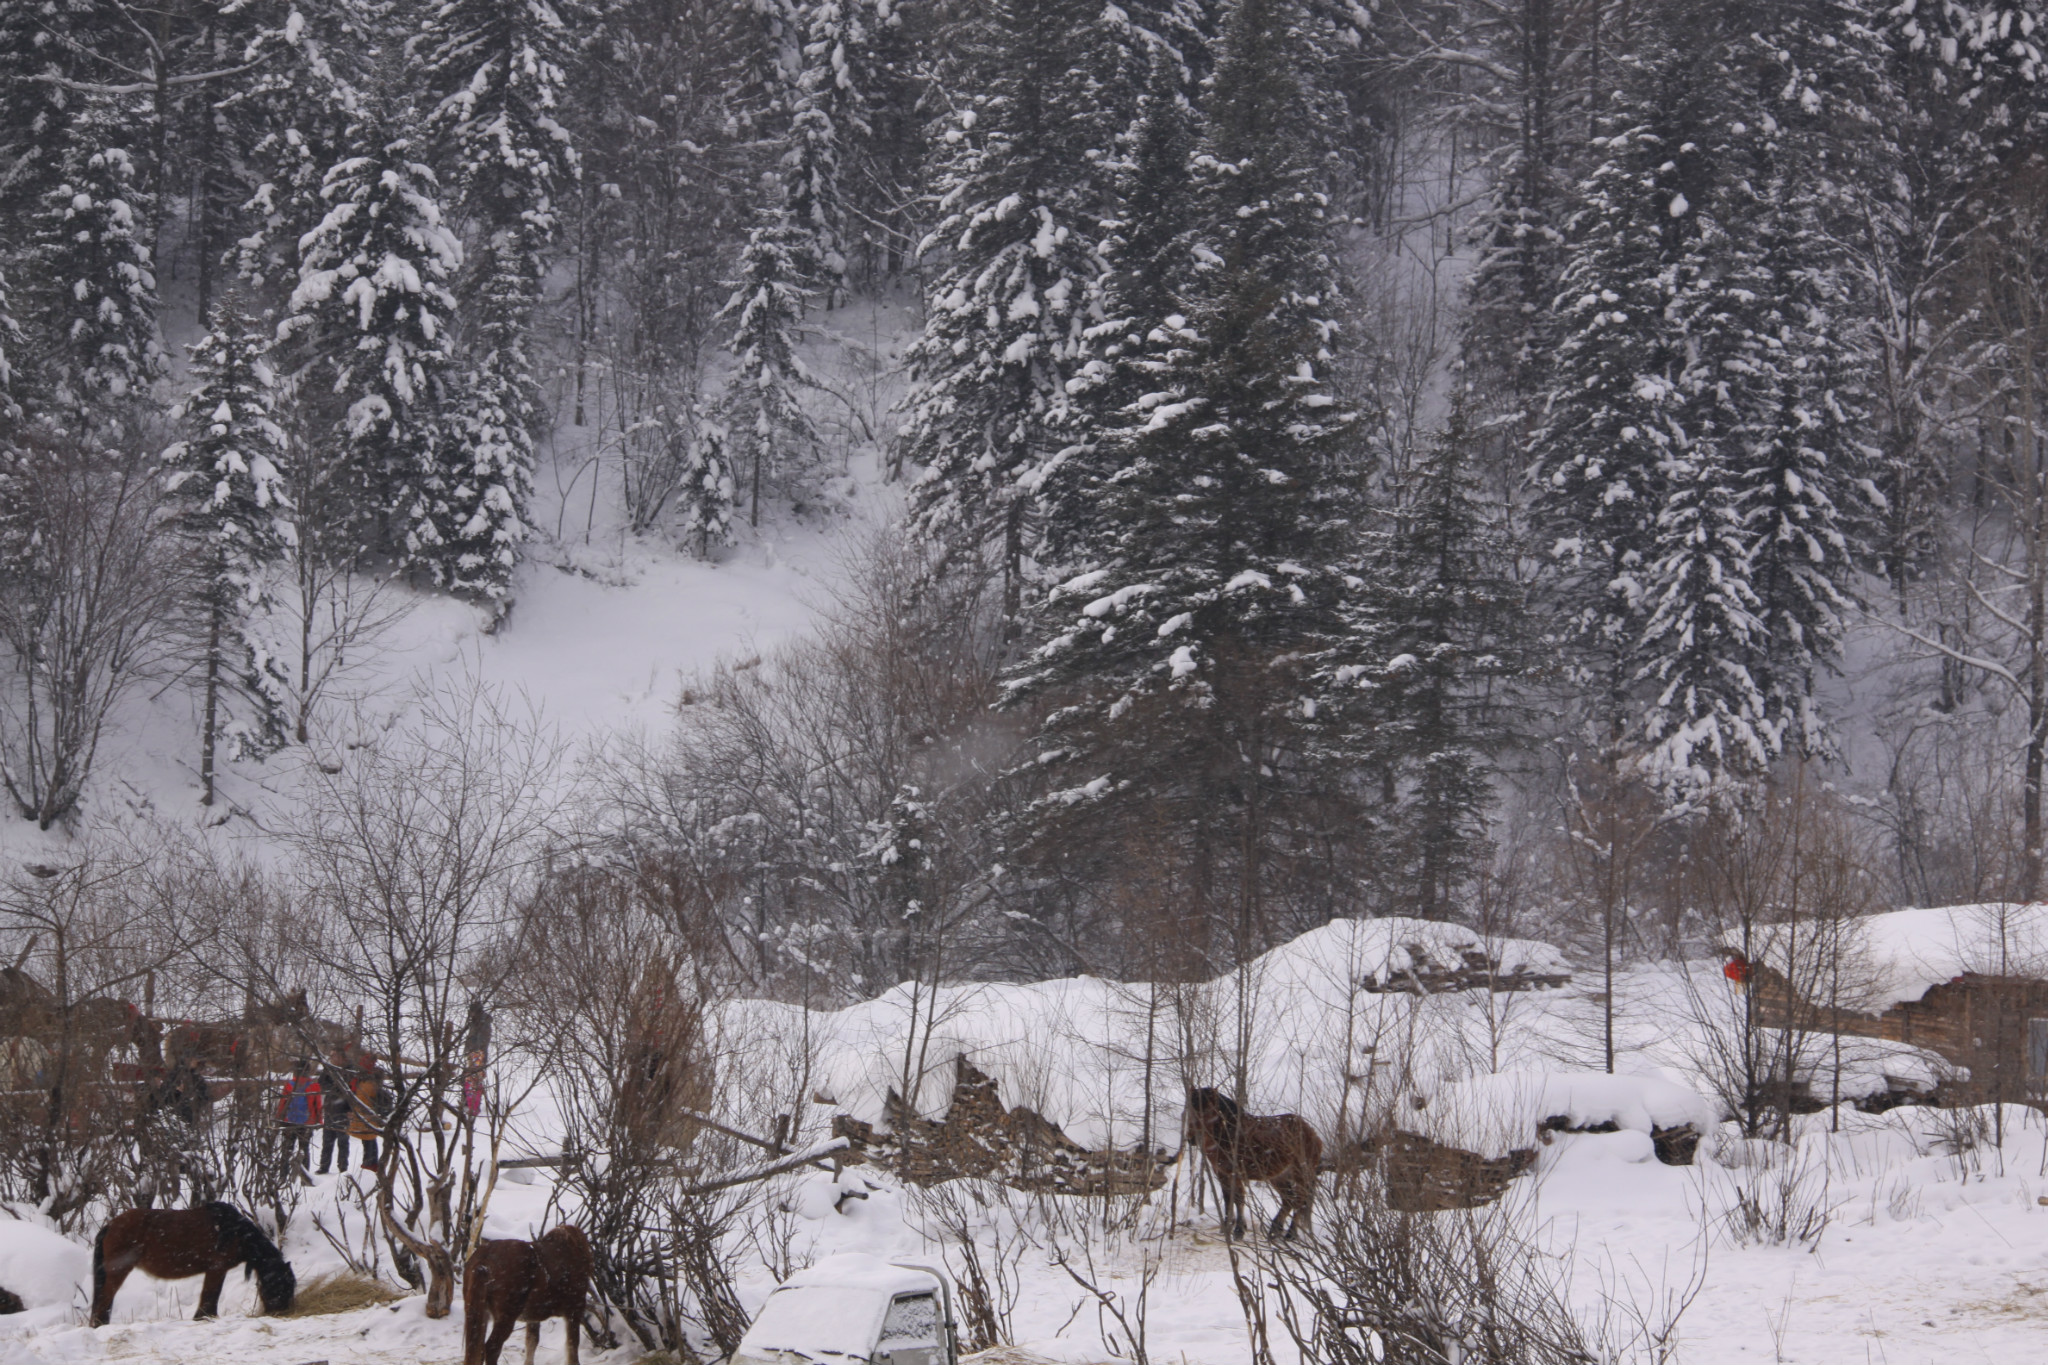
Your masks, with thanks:
[[(1681, 952), (1706, 849), (1804, 821), (1855, 907), (2034, 898), (2040, 20), (10, 4), (10, 821), (289, 882), (455, 726), (547, 806), (512, 900), (596, 878), (788, 999), (1333, 915)], [(655, 731), (459, 669), (371, 714), (420, 610), (489, 649), (602, 546), (791, 528), (829, 602)], [(137, 804), (102, 741), (166, 706)]]

